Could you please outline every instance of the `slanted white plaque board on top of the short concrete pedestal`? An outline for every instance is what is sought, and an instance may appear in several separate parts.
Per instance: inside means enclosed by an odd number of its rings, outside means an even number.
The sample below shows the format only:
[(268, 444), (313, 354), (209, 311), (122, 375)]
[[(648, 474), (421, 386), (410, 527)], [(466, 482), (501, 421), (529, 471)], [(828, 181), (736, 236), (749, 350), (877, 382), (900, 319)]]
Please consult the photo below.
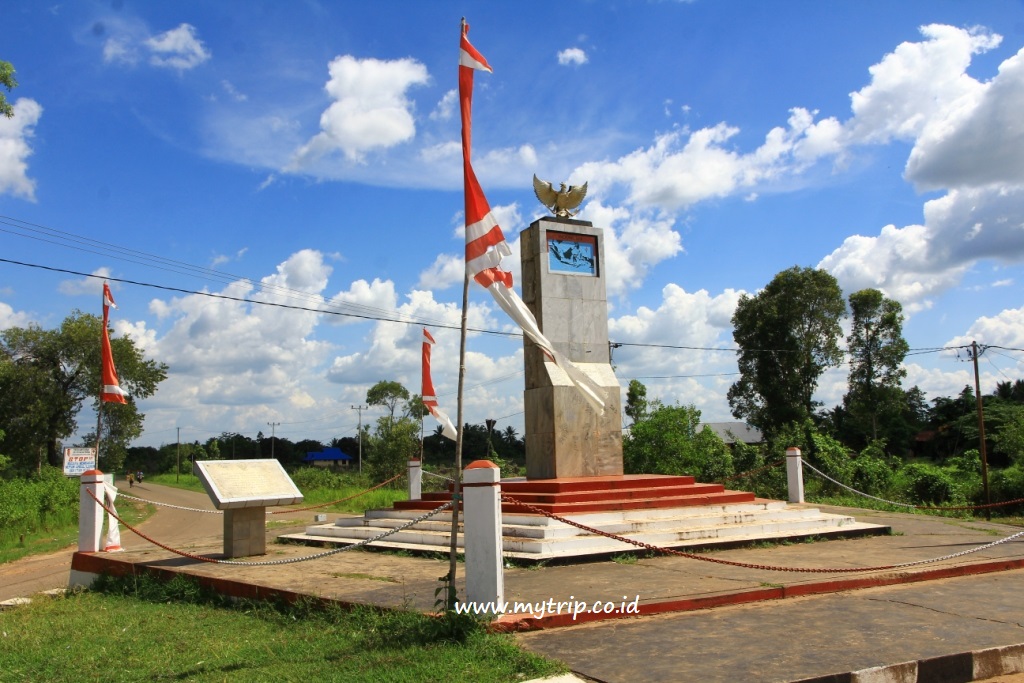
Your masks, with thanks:
[(198, 460), (196, 475), (218, 510), (302, 502), (302, 493), (274, 459)]

